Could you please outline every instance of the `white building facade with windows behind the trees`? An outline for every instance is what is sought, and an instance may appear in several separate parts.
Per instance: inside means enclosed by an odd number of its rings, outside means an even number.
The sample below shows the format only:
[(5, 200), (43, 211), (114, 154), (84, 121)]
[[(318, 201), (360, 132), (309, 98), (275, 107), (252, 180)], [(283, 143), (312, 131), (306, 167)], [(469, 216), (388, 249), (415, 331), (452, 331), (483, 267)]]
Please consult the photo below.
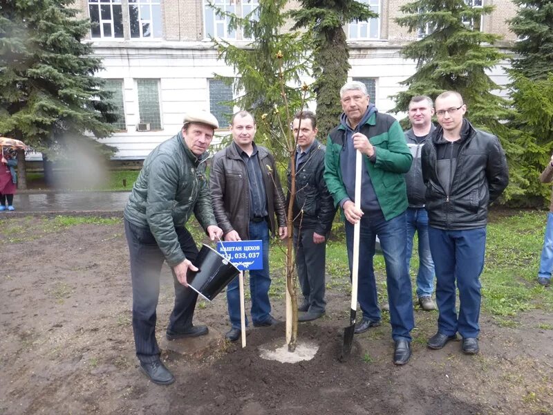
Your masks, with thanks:
[[(344, 28), (350, 42), (350, 80), (368, 86), (371, 102), (379, 111), (394, 107), (389, 98), (401, 90), (399, 82), (415, 71), (415, 63), (400, 56), (400, 48), (421, 34), (407, 33), (395, 18), (405, 1), (362, 0), (379, 13), (378, 19)], [(483, 17), (480, 30), (514, 40), (505, 20), (514, 16), (510, 0), (471, 0), (494, 4), (494, 13)], [(218, 7), (245, 16), (258, 0), (213, 0)], [(299, 6), (290, 1), (288, 7)], [(239, 31), (228, 30), (228, 21), (217, 17), (205, 0), (77, 0), (75, 7), (97, 26), (86, 42), (103, 59), (106, 79), (118, 108), (118, 132), (102, 142), (118, 149), (114, 159), (142, 160), (160, 142), (182, 127), (186, 111), (214, 113), (221, 126), (232, 109), (221, 102), (232, 99), (232, 89), (215, 74), (238, 77), (234, 68), (217, 59), (209, 35), (246, 45)], [(498, 84), (507, 79), (498, 67), (491, 75)], [(338, 98), (337, 98), (338, 99)], [(224, 133), (224, 128), (222, 129)]]

